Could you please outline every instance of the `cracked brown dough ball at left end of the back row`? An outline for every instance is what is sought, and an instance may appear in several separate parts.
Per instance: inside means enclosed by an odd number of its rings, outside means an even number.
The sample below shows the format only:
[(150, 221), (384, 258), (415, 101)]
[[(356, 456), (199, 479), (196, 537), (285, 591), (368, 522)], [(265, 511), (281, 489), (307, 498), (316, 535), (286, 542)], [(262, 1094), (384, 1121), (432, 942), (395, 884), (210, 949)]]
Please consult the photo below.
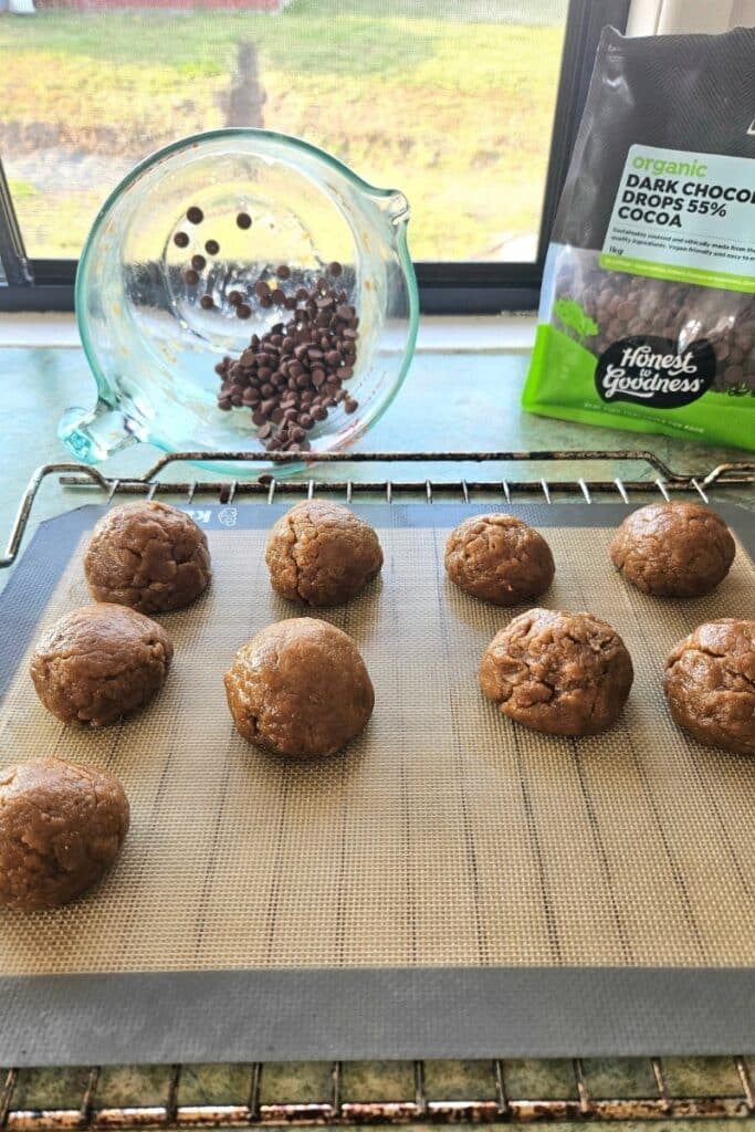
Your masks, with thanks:
[(127, 503), (94, 529), (84, 572), (96, 601), (114, 601), (143, 614), (190, 604), (212, 571), (205, 532), (177, 507)]

